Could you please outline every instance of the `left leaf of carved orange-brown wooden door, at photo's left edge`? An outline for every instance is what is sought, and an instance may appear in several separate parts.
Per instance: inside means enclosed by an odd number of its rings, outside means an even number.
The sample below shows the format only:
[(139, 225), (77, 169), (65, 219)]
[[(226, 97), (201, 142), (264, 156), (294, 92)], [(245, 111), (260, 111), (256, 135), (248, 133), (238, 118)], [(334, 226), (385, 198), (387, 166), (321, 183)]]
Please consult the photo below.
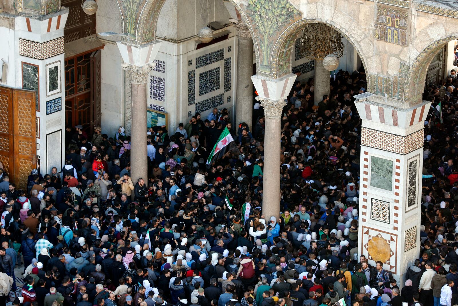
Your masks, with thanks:
[(0, 161), (3, 169), (14, 174), (13, 89), (0, 87)]

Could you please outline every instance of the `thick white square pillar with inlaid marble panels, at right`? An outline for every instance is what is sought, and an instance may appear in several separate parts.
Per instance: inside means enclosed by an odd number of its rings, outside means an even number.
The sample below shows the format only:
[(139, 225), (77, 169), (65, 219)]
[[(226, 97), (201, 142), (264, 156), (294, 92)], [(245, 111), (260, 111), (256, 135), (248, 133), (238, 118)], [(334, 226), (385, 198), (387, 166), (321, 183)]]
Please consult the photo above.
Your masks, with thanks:
[(431, 102), (409, 108), (397, 102), (377, 95), (355, 101), (362, 119), (358, 248), (403, 284), (420, 251), (423, 130)]

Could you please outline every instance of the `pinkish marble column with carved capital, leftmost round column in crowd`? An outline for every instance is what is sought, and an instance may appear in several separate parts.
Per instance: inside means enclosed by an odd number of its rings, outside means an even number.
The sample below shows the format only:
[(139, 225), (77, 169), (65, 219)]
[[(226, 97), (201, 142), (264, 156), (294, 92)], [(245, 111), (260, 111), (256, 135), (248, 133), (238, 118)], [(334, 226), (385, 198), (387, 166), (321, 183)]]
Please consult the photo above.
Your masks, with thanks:
[(142, 67), (122, 64), (131, 78), (131, 178), (136, 184), (139, 178), (147, 180), (147, 134), (146, 134), (146, 84), (148, 74), (155, 63)]

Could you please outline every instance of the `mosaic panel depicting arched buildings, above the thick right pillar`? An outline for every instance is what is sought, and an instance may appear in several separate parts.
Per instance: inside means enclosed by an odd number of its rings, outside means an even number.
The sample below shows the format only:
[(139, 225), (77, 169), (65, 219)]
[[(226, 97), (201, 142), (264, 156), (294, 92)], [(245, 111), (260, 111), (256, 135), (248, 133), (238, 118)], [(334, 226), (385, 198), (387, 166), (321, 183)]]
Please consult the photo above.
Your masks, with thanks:
[(396, 45), (407, 45), (408, 9), (377, 3), (374, 38)]

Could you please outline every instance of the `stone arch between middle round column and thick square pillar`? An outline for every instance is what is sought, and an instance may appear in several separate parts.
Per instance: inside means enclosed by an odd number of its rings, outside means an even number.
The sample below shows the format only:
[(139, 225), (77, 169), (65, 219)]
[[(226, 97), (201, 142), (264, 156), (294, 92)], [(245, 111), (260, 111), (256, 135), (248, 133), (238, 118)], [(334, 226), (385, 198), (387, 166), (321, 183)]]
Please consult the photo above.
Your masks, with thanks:
[[(356, 40), (354, 37), (347, 31), (342, 30), (338, 27), (338, 24), (333, 21), (327, 20), (319, 21), (317, 19), (301, 19), (297, 22), (294, 22), (284, 32), (278, 37), (277, 42), (273, 48), (273, 70), (276, 72), (276, 77), (279, 78), (287, 73), (291, 73), (291, 50), (294, 46), (295, 39), (297, 39), (299, 33), (302, 31), (304, 26), (308, 23), (321, 22), (325, 23), (327, 26), (337, 30), (342, 36), (344, 36), (350, 44), (354, 47), (358, 55), (360, 56), (361, 62), (366, 72), (368, 72), (368, 66), (365, 61), (365, 56), (362, 54), (362, 49), (359, 43), (355, 43)], [(355, 25), (360, 31), (363, 31), (359, 25)], [(363, 33), (363, 32), (361, 32)], [(367, 35), (365, 35), (367, 37)], [(365, 38), (365, 37), (364, 37)], [(364, 39), (363, 38), (363, 39)], [(369, 82), (367, 82), (369, 85)], [(369, 88), (368, 88), (369, 89)], [(369, 91), (369, 90), (368, 90)]]

